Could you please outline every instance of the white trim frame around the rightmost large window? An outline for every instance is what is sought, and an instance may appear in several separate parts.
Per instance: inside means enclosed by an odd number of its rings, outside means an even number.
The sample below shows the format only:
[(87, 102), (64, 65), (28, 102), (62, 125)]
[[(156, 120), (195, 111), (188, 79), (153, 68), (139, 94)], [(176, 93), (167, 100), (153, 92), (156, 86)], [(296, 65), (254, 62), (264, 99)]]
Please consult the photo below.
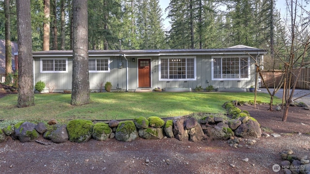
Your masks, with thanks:
[[(214, 59), (215, 58), (248, 58), (248, 78), (214, 78)], [(250, 57), (248, 56), (212, 56), (211, 59), (211, 76), (212, 80), (249, 80), (250, 79)], [(239, 62), (240, 67), (240, 62)], [(223, 68), (222, 68), (222, 62), (221, 62), (221, 77), (223, 77)]]

